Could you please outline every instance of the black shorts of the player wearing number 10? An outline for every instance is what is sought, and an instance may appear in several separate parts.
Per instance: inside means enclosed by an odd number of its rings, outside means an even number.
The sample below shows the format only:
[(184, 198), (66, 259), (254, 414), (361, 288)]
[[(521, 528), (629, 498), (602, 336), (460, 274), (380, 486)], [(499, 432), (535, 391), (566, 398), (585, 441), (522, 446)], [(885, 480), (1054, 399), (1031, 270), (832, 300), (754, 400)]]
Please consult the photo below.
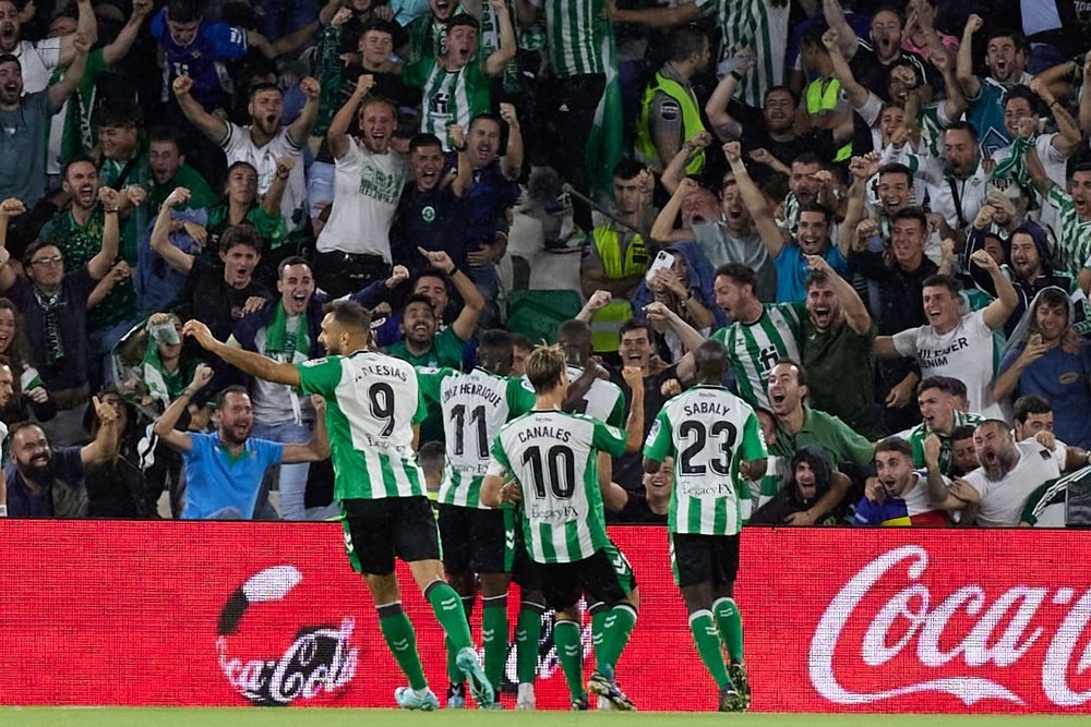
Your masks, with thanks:
[(636, 575), (628, 560), (612, 543), (595, 555), (575, 562), (538, 564), (546, 604), (565, 610), (584, 593), (589, 603), (613, 608), (636, 589)]

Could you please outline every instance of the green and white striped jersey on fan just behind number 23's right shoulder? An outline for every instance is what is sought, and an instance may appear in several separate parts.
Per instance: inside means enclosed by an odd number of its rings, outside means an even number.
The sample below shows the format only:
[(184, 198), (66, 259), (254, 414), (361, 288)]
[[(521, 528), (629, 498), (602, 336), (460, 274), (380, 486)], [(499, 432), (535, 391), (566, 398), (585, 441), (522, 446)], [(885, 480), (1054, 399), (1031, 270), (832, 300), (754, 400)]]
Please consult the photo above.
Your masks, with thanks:
[(769, 408), (766, 387), (779, 359), (800, 361), (806, 315), (802, 303), (767, 303), (754, 323), (735, 322), (712, 334), (728, 349), (739, 396), (751, 407)]

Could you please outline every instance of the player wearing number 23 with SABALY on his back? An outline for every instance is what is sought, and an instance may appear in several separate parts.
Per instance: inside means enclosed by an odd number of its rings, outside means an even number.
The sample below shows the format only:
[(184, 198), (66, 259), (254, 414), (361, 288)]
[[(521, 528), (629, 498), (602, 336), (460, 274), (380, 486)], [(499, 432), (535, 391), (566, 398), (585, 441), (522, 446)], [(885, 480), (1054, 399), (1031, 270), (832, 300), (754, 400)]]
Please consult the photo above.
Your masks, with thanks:
[[(694, 351), (697, 386), (674, 397), (651, 425), (644, 471), (674, 458), (674, 493), (667, 514), (674, 582), (690, 611), (697, 652), (720, 690), (720, 712), (750, 706), (743, 666), (743, 628), (734, 602), (740, 478), (765, 474), (767, 452), (757, 414), (720, 381), (728, 369), (723, 344), (708, 340)], [(727, 646), (730, 663), (723, 662)]]

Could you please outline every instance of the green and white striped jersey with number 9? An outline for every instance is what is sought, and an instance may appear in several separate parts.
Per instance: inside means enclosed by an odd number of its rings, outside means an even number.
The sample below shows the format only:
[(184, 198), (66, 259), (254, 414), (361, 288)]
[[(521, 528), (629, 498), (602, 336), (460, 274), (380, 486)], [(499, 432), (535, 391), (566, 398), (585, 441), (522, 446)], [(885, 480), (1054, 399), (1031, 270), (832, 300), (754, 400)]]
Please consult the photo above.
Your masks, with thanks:
[(326, 400), (334, 497), (382, 499), (424, 494), (413, 425), (428, 410), (412, 364), (357, 351), (297, 364), (300, 388)]

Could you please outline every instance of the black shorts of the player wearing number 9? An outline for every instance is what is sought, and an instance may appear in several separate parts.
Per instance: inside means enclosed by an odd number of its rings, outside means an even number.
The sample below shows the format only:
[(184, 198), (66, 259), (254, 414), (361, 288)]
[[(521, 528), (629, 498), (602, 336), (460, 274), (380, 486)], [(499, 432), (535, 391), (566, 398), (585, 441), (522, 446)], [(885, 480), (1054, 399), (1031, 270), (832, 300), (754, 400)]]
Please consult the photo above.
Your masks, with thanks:
[(345, 549), (360, 573), (394, 572), (395, 554), (407, 562), (440, 559), (432, 504), (423, 495), (341, 500)]

